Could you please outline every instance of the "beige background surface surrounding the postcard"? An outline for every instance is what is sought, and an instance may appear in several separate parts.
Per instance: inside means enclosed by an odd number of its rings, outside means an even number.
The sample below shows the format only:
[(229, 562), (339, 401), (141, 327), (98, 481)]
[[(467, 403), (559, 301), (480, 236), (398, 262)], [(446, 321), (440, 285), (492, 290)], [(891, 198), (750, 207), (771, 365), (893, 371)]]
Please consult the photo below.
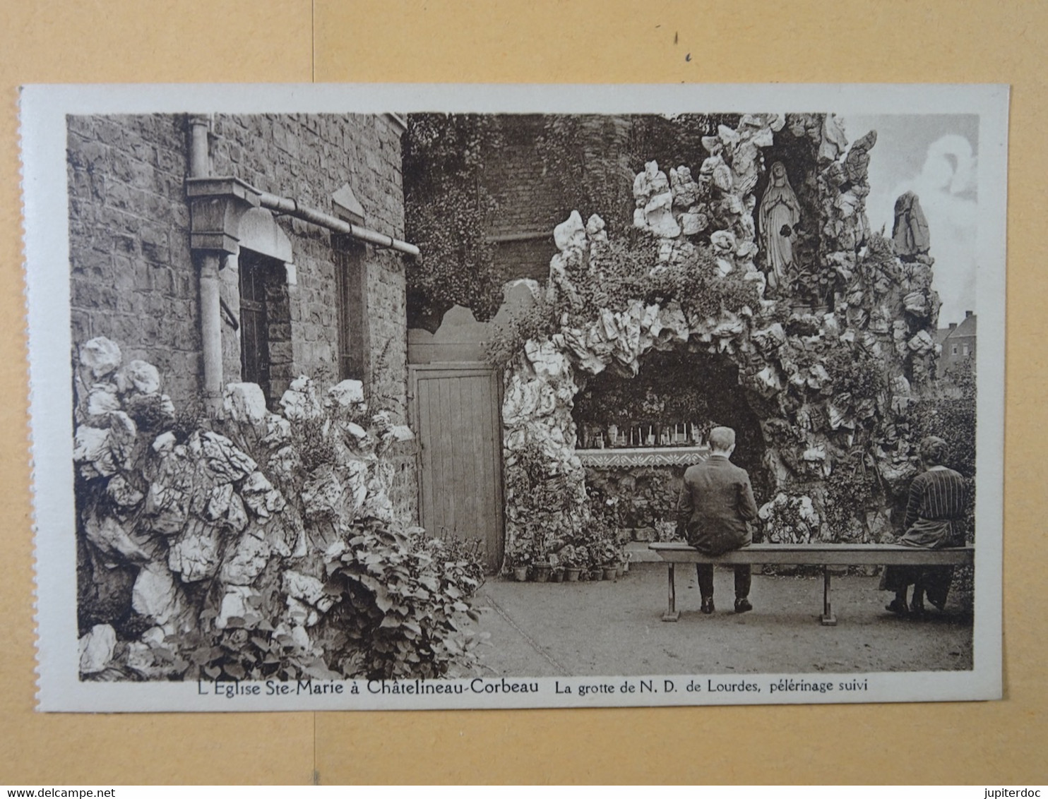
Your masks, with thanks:
[[(1042, 452), (1048, 372), (1040, 324), (1048, 264), (1048, 5), (6, 0), (0, 31), (0, 782), (303, 783), (314, 771), (324, 783), (1048, 782)], [(1011, 84), (1005, 701), (35, 713), (17, 87), (310, 80)]]

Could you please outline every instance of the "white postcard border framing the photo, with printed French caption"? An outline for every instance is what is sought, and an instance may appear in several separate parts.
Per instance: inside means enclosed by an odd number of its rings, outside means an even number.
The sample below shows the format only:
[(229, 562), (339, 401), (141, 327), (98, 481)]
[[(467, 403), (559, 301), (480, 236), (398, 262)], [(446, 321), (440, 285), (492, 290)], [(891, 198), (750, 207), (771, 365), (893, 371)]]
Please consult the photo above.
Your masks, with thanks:
[[(938, 85), (110, 85), (29, 86), (21, 96), (29, 406), (35, 507), (39, 710), (215, 711), (651, 706), (916, 702), (998, 698), (1002, 692), (1002, 532), (1004, 474), (1005, 236), (1007, 196), (1006, 86)], [(815, 692), (761, 692), (682, 696), (649, 692), (558, 693), (554, 679), (531, 693), (475, 693), (461, 698), (370, 693), (366, 681), (344, 681), (359, 693), (296, 695), (293, 703), (264, 693), (222, 698), (196, 684), (91, 683), (78, 676), (75, 534), (72, 469), (69, 236), (66, 194), (66, 114), (147, 112), (532, 112), (672, 113), (678, 111), (833, 111), (848, 113), (973, 113), (979, 130), (979, 253), (977, 528), (974, 668), (970, 671), (869, 674), (747, 674), (734, 680), (768, 686), (779, 680), (845, 683), (866, 679), (861, 696)], [(27, 598), (28, 601), (28, 598)], [(509, 680), (508, 678), (506, 678)], [(561, 685), (663, 680), (725, 681), (725, 675), (561, 678)], [(498, 678), (482, 678), (485, 684)], [(245, 684), (246, 685), (246, 684)], [(264, 690), (264, 684), (262, 690)], [(486, 690), (486, 689), (484, 689)], [(765, 688), (765, 690), (767, 690)], [(803, 693), (803, 695), (802, 695)], [(748, 695), (747, 695), (748, 694)], [(407, 700), (405, 697), (408, 697)], [(759, 698), (758, 698), (759, 697)], [(223, 704), (224, 703), (224, 704)]]

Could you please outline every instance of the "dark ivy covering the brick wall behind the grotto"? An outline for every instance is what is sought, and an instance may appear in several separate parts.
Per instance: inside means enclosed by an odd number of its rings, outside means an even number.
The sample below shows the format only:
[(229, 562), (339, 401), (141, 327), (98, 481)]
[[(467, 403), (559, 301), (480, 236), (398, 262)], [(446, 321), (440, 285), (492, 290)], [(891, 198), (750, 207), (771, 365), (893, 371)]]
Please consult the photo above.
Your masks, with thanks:
[[(555, 177), (550, 208), (563, 219), (571, 210), (598, 212), (616, 237), (632, 226), (633, 175), (656, 157), (696, 171), (708, 155), (702, 137), (734, 114), (664, 116), (549, 114), (534, 141), (534, 158)], [(453, 305), (489, 319), (502, 302), (505, 278), (487, 238), (499, 213), (498, 186), (485, 160), (498, 158), (514, 117), (493, 114), (411, 114), (403, 145), (403, 188), (409, 240), (422, 256), (407, 270), (411, 327), (435, 331)], [(550, 202), (536, 198), (536, 202)], [(515, 275), (520, 276), (520, 275)]]

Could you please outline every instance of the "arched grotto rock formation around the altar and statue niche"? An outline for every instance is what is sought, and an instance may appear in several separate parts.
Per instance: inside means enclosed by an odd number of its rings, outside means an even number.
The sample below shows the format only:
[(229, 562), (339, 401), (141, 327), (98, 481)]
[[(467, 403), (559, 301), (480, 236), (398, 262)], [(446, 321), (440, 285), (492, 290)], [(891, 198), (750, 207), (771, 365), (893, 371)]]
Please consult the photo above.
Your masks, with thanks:
[[(754, 263), (754, 192), (767, 168), (763, 150), (777, 136), (803, 137), (817, 153), (821, 239), (817, 263), (808, 267), (832, 310), (811, 313), (803, 307), (811, 307), (809, 296), (788, 291), (766, 297), (765, 276)], [(646, 164), (634, 181), (634, 224), (655, 240), (650, 274), (701, 249), (721, 280), (751, 281), (755, 301), (699, 317), (678, 302), (633, 298), (616, 311), (585, 309), (583, 324), (567, 324), (566, 314), (552, 335), (527, 341), (505, 374), (510, 557), (543, 550), (536, 536), (585, 538), (589, 514), (573, 397), (587, 376), (605, 369), (636, 375), (653, 349), (708, 353), (738, 367), (740, 386), (761, 420), (773, 483), (761, 509), (767, 538), (869, 541), (892, 534), (888, 509), (914, 473), (907, 412), (932, 374), (939, 302), (930, 263), (900, 260), (890, 240), (870, 232), (865, 203), (875, 143), (871, 131), (848, 148), (837, 121), (825, 115), (747, 114), (735, 130), (722, 126), (703, 138), (709, 155), (697, 179), (686, 168), (668, 177), (656, 162)], [(580, 281), (601, 270), (598, 242), (581, 219), (569, 222), (570, 236), (556, 238), (552, 298), (577, 298)], [(588, 268), (565, 268), (582, 263)], [(529, 524), (541, 503), (512, 490), (525, 485), (520, 472), (533, 469), (537, 452), (567, 497), (542, 526)]]

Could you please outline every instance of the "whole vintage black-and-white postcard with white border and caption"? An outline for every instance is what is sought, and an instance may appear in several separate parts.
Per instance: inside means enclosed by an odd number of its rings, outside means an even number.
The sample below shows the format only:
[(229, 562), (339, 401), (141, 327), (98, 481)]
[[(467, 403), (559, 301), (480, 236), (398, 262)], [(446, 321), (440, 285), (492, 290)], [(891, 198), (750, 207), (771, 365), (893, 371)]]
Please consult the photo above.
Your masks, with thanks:
[(1000, 697), (1007, 102), (24, 88), (39, 708)]

